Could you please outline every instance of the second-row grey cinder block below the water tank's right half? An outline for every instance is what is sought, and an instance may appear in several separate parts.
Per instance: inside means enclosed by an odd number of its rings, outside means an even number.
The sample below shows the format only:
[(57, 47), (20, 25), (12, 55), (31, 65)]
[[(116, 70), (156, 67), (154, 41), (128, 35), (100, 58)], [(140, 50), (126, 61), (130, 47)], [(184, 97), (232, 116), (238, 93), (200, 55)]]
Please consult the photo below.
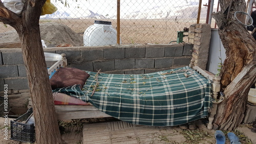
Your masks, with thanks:
[(113, 71), (115, 70), (115, 61), (93, 62), (93, 70), (96, 72), (99, 69), (101, 69), (100, 71)]

